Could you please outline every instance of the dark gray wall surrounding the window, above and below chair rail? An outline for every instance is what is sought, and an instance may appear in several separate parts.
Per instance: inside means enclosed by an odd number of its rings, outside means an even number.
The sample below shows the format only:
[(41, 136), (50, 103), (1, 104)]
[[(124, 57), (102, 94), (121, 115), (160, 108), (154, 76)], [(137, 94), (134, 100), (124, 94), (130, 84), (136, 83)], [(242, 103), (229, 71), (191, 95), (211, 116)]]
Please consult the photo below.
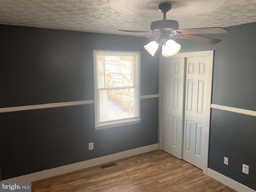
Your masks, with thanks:
[[(93, 49), (141, 51), (141, 94), (158, 94), (150, 39), (0, 25), (0, 108), (94, 99)], [(126, 36), (127, 38), (127, 36)], [(95, 130), (94, 104), (0, 113), (2, 179), (158, 143), (158, 98), (139, 124)], [(88, 143), (94, 142), (94, 150)]]

